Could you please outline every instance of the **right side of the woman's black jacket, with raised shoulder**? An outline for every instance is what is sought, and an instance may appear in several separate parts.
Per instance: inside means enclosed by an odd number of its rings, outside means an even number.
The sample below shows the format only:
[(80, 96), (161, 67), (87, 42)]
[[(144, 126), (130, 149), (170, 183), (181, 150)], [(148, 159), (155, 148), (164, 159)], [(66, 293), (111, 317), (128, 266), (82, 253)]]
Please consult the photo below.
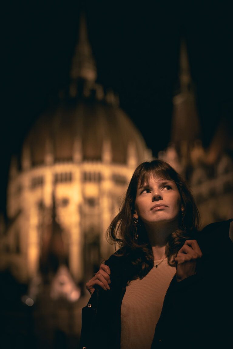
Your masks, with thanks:
[[(203, 257), (196, 275), (169, 287), (152, 348), (228, 347), (231, 341), (233, 247), (230, 221), (212, 223), (197, 238)], [(169, 335), (167, 335), (169, 333)], [(163, 345), (162, 345), (163, 343)]]

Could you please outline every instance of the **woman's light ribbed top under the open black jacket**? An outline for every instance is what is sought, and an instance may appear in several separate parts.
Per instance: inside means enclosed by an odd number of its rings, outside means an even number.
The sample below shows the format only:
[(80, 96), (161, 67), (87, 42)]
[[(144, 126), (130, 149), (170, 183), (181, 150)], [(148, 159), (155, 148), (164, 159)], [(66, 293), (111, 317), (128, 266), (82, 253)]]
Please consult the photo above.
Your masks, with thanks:
[[(159, 264), (162, 259), (154, 261)], [(121, 306), (121, 349), (150, 349), (163, 300), (176, 269), (167, 258), (126, 287)]]

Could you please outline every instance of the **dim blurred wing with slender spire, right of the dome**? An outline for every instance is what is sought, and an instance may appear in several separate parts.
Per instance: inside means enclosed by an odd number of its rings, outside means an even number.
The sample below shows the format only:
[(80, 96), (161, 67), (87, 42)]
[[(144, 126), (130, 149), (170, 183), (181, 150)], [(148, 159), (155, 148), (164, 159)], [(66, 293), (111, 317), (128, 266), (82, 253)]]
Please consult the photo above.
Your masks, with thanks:
[(201, 127), (188, 54), (181, 41), (179, 84), (173, 98), (171, 143), (158, 157), (187, 179), (202, 216), (202, 227), (233, 217), (233, 159), (224, 128), (218, 127), (208, 148), (199, 139)]

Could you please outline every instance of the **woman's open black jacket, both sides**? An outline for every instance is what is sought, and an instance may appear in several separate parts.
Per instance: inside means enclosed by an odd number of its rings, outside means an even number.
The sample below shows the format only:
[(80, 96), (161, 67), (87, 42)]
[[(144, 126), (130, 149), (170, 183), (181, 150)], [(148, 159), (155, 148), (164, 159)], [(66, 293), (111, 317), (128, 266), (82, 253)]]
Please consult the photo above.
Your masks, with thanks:
[[(151, 348), (227, 348), (232, 343), (231, 221), (209, 224), (197, 234), (203, 253), (199, 272), (179, 283), (172, 279)], [(120, 348), (121, 303), (135, 270), (130, 260), (115, 254), (105, 264), (111, 289), (96, 289), (82, 309), (81, 349)]]

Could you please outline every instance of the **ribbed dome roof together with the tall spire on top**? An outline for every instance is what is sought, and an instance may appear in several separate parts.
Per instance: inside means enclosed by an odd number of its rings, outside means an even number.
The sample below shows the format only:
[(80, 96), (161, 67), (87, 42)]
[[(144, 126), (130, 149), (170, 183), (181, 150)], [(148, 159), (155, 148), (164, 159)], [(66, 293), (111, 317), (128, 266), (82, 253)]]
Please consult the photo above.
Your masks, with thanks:
[(107, 158), (119, 164), (129, 164), (133, 158), (137, 165), (148, 159), (145, 141), (118, 107), (118, 98), (112, 92), (105, 94), (95, 82), (96, 66), (84, 15), (70, 76), (69, 92), (60, 106), (41, 116), (26, 138), (22, 156), (26, 166), (22, 167), (72, 160), (106, 162)]

